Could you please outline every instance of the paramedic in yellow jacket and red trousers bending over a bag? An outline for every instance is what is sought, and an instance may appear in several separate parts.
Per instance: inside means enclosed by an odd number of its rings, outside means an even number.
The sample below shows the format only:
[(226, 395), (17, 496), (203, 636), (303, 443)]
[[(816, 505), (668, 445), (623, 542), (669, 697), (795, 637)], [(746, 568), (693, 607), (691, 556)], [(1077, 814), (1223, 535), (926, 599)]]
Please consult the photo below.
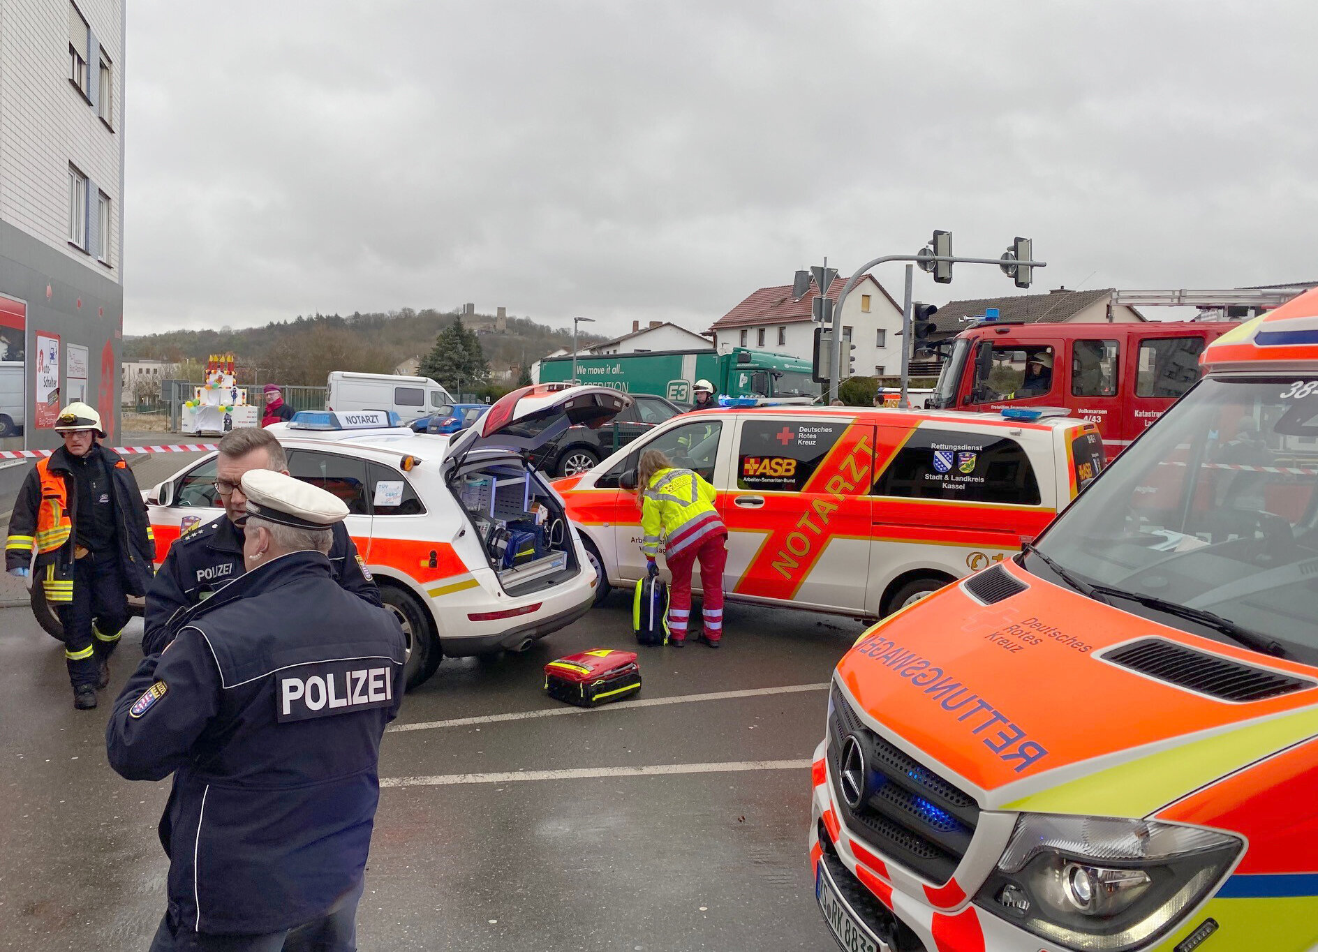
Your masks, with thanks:
[(645, 541), (641, 550), (648, 560), (651, 576), (659, 574), (655, 559), (659, 539), (664, 538), (664, 560), (672, 572), (668, 593), (670, 641), (687, 643), (691, 624), (691, 570), (700, 559), (700, 584), (704, 588), (701, 616), (705, 628), (700, 641), (718, 647), (724, 634), (724, 564), (728, 562), (728, 527), (714, 509), (714, 488), (691, 469), (676, 469), (672, 460), (658, 450), (641, 455), (638, 483), (641, 527)]

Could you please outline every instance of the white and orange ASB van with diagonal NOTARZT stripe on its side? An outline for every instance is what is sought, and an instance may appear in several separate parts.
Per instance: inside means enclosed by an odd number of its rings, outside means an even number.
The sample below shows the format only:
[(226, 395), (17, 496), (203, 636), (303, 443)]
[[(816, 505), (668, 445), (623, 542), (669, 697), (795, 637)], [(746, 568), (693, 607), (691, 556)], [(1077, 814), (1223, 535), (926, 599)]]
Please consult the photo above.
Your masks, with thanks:
[(878, 618), (1019, 552), (1098, 473), (1093, 423), (1012, 413), (702, 410), (554, 488), (596, 563), (598, 597), (645, 575), (641, 506), (619, 483), (660, 450), (717, 491), (729, 600)]

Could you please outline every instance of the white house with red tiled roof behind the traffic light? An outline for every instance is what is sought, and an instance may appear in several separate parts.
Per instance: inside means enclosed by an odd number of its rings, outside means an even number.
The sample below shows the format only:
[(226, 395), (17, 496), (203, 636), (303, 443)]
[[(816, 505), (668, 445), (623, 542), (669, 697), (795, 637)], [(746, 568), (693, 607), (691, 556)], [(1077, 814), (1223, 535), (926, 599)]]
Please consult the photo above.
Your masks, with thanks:
[[(837, 277), (829, 297), (837, 301), (846, 278)], [(733, 347), (749, 347), (811, 360), (815, 328), (811, 310), (818, 286), (811, 281), (801, 297), (792, 285), (760, 287), (721, 316), (705, 331), (720, 353)], [(902, 367), (902, 306), (883, 285), (866, 274), (842, 303), (842, 339), (855, 344), (855, 373), (862, 377), (899, 372)]]

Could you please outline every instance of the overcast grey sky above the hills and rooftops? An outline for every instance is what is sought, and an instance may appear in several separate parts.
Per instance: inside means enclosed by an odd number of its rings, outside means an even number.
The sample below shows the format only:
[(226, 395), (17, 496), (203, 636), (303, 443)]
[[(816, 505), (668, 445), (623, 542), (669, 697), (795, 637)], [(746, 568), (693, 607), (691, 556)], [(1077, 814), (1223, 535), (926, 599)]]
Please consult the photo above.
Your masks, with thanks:
[(129, 0), (127, 44), (129, 334), (704, 330), (933, 228), (1033, 237), (1037, 290), (1318, 280), (1313, 3)]

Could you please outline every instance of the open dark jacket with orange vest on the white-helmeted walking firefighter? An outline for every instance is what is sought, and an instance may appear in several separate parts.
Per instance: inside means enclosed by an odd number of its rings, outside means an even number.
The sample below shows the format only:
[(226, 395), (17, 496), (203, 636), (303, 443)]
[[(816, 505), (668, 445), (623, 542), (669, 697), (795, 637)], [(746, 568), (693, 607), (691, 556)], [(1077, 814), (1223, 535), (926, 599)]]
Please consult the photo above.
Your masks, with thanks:
[[(109, 447), (101, 446), (99, 451), (115, 493), (115, 535), (124, 588), (128, 595), (145, 595), (156, 562), (156, 537), (146, 518), (146, 504), (128, 463)], [(32, 566), (50, 601), (71, 601), (76, 525), (78, 487), (69, 454), (59, 447), (37, 461), (18, 491), (5, 539), (5, 570)]]

